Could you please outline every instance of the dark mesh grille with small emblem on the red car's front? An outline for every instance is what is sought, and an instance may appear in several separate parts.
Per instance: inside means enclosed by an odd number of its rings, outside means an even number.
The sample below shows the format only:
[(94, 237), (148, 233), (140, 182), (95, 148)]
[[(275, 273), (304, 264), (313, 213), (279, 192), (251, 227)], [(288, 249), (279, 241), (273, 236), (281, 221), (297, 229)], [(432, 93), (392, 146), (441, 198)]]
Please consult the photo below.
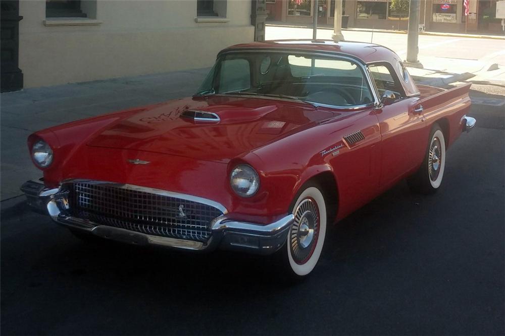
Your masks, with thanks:
[(72, 216), (155, 236), (207, 241), (211, 221), (223, 215), (207, 204), (119, 184), (75, 182), (65, 186)]

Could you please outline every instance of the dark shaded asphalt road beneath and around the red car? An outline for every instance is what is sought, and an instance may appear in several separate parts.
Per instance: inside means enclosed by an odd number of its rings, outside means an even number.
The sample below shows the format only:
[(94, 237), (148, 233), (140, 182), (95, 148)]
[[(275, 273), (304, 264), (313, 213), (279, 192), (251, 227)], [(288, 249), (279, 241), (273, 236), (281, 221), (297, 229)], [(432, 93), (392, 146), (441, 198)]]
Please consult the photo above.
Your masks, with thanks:
[(0, 332), (501, 335), (503, 109), (473, 106), (437, 194), (399, 183), (333, 228), (293, 286), (269, 259), (85, 244), (4, 207)]

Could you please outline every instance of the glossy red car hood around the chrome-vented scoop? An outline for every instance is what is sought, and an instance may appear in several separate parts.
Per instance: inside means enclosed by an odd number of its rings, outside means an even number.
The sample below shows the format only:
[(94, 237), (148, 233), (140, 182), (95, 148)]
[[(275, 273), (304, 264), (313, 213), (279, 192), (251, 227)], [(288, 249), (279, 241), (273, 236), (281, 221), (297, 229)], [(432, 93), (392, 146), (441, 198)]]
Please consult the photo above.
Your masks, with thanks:
[[(181, 117), (181, 113), (195, 110), (214, 113), (220, 120)], [(228, 162), (336, 115), (338, 112), (277, 99), (185, 98), (125, 117), (97, 132), (87, 145)]]

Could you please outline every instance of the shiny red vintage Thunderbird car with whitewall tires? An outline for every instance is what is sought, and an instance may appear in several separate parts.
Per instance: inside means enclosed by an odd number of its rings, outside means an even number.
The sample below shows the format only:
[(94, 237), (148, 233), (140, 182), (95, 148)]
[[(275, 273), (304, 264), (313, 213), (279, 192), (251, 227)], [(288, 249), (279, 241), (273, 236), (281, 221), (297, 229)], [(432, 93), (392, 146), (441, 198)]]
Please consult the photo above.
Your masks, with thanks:
[(402, 178), (440, 187), (447, 148), (475, 124), (469, 88), (416, 86), (376, 44), (235, 45), (192, 97), (31, 135), (43, 179), (22, 190), (81, 237), (277, 253), (300, 278), (328, 223)]

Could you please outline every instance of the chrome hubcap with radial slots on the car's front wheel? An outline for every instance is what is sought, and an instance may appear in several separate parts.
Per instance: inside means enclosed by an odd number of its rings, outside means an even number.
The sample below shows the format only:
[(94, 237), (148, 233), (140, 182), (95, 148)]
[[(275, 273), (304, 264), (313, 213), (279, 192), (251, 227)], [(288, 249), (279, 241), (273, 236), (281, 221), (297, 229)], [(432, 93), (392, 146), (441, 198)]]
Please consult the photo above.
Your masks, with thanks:
[(290, 232), (291, 256), (296, 263), (305, 263), (311, 257), (318, 233), (319, 209), (312, 198), (306, 198), (296, 208)]

